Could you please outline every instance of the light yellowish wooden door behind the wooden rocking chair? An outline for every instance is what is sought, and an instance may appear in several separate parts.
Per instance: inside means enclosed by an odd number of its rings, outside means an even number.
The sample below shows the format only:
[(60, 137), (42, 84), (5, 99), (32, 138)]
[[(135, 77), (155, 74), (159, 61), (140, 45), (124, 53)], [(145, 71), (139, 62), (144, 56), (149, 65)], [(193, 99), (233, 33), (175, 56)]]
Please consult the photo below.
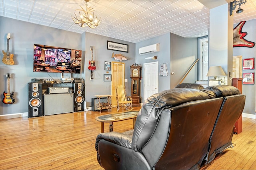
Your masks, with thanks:
[(122, 84), (124, 86), (124, 72), (125, 64), (121, 62), (111, 62), (112, 68), (112, 84), (111, 84), (111, 95), (112, 95), (112, 107), (117, 106), (116, 102), (116, 86)]

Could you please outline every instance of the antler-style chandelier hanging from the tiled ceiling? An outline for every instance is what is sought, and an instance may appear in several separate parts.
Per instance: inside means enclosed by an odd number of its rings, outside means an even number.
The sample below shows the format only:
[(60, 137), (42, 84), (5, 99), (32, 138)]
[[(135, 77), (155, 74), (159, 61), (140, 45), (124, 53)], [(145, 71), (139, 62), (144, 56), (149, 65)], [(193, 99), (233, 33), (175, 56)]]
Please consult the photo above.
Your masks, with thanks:
[(100, 24), (100, 19), (98, 20), (97, 16), (94, 18), (94, 8), (87, 5), (87, 2), (90, 0), (84, 0), (86, 10), (80, 5), (82, 9), (75, 10), (78, 11), (79, 15), (77, 16), (76, 13), (75, 16), (72, 16), (73, 21), (78, 24), (80, 27), (90, 27), (90, 28), (96, 28)]

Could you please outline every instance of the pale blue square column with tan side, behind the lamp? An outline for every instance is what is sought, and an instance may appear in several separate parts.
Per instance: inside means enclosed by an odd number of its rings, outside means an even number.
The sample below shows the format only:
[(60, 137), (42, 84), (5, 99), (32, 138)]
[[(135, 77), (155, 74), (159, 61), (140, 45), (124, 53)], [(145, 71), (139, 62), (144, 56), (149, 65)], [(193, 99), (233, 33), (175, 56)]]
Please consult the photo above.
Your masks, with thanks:
[[(210, 8), (209, 68), (210, 66), (222, 66), (227, 75), (225, 80), (230, 79), (233, 64), (233, 16), (230, 16), (230, 3), (226, 0), (218, 0), (219, 6), (211, 8), (211, 4), (207, 4), (204, 0), (199, 1)], [(209, 79), (212, 78), (209, 77)], [(216, 83), (209, 82), (209, 85)], [(225, 81), (225, 84), (231, 85), (231, 81)]]

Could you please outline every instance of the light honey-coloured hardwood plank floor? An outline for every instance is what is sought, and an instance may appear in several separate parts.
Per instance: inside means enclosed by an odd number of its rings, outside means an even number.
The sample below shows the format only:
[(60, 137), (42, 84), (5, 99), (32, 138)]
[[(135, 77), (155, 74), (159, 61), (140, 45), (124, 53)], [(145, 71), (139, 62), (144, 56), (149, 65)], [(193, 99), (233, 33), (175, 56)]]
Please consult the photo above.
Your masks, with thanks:
[[(95, 117), (109, 113), (85, 111), (1, 120), (0, 169), (103, 170), (96, 158), (100, 122)], [(104, 123), (105, 132), (108, 125)], [(132, 119), (114, 122), (114, 131), (130, 129)], [(256, 120), (243, 118), (243, 132), (234, 135), (232, 142), (234, 148), (226, 149), (201, 170), (255, 170)]]

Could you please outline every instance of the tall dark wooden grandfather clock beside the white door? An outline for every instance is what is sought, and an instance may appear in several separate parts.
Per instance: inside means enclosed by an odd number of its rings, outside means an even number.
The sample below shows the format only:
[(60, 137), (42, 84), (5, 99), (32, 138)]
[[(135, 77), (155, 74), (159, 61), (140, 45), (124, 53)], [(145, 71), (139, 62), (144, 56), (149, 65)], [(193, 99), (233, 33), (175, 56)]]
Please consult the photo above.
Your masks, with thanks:
[(131, 69), (131, 78), (132, 78), (132, 106), (140, 106), (140, 68), (138, 64), (132, 64)]

